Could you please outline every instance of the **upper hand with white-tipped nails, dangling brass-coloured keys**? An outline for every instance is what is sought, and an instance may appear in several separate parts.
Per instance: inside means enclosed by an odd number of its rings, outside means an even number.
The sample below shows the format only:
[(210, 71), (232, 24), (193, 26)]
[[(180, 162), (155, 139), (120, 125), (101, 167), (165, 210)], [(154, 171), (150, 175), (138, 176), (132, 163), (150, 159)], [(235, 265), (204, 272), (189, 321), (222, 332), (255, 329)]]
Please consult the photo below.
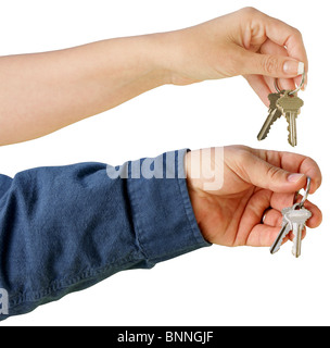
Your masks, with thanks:
[(301, 83), (300, 63), (308, 71), (301, 33), (253, 8), (165, 33), (164, 39), (162, 54), (173, 84), (243, 75), (267, 107), (274, 77), (283, 78), (280, 88), (294, 89)]

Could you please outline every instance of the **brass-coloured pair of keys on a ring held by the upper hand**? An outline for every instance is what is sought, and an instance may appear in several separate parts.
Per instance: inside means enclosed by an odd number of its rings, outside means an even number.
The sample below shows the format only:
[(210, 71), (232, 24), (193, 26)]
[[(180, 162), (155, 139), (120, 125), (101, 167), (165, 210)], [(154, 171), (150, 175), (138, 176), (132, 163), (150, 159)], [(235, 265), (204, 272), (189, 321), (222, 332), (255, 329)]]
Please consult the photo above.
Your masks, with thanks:
[(285, 116), (288, 121), (289, 137), (288, 141), (292, 147), (296, 146), (296, 117), (301, 112), (301, 108), (304, 105), (304, 101), (297, 97), (297, 91), (301, 90), (305, 83), (305, 72), (302, 75), (301, 85), (295, 90), (280, 90), (275, 80), (276, 94), (270, 94), (268, 100), (270, 102), (268, 116), (257, 135), (258, 140), (263, 140), (267, 137), (271, 125), (281, 115)]

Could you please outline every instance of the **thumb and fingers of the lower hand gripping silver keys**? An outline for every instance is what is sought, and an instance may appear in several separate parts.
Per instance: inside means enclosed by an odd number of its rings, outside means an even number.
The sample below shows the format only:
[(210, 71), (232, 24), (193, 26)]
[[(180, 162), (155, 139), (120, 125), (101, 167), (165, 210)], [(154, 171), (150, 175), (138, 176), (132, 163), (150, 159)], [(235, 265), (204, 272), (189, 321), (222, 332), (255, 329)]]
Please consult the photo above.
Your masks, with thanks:
[[(305, 188), (307, 176), (312, 178), (309, 194), (321, 185), (317, 163), (302, 154), (232, 146), (225, 148), (225, 162), (230, 170), (228, 173), (236, 174), (233, 183), (237, 184), (239, 177), (255, 186), (237, 231), (238, 245), (270, 246), (280, 231), (282, 209), (293, 206), (295, 191)], [(246, 189), (246, 185), (240, 185), (241, 189)], [(297, 201), (301, 199), (302, 196)], [(305, 208), (312, 212), (306, 225), (310, 228), (319, 226), (322, 221), (320, 209), (308, 200)], [(292, 234), (289, 237), (292, 238)]]

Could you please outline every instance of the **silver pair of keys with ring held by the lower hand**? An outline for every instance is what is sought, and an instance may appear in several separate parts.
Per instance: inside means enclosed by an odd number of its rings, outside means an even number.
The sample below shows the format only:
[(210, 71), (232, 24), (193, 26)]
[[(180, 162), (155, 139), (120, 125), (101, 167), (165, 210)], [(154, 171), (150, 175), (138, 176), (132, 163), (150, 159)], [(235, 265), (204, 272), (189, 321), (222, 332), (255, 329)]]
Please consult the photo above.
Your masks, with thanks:
[[(283, 239), (292, 231), (294, 235), (292, 253), (295, 258), (299, 258), (301, 256), (302, 233), (306, 226), (307, 220), (312, 216), (312, 212), (304, 207), (304, 203), (309, 194), (309, 188), (310, 177), (307, 177), (307, 187), (302, 201), (282, 210), (282, 228), (275, 239), (272, 246), (270, 247), (270, 253), (275, 253), (280, 249)], [(295, 196), (297, 197), (297, 194)]]

